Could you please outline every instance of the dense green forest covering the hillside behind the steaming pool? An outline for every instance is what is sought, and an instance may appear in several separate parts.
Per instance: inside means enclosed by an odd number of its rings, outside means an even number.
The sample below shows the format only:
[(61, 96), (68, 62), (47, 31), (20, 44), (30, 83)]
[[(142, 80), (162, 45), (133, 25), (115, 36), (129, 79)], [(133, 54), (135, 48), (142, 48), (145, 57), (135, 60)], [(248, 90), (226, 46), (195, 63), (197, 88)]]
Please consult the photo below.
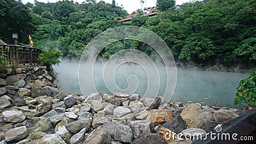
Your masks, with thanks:
[[(143, 3), (143, 1), (141, 1)], [(196, 63), (255, 63), (256, 1), (204, 0), (175, 5), (174, 0), (157, 0), (154, 17), (137, 16), (118, 22), (128, 13), (113, 3), (86, 0), (84, 3), (22, 4), (0, 1), (0, 39), (12, 44), (12, 32), (19, 33), (18, 44), (60, 49), (65, 58), (79, 58), (93, 37), (108, 28), (140, 26), (161, 36), (176, 60)], [(143, 14), (141, 10), (137, 10)], [(134, 12), (134, 13), (136, 13)], [(142, 42), (124, 40), (108, 45), (100, 54), (109, 58), (121, 49), (138, 49), (150, 56), (152, 49)]]

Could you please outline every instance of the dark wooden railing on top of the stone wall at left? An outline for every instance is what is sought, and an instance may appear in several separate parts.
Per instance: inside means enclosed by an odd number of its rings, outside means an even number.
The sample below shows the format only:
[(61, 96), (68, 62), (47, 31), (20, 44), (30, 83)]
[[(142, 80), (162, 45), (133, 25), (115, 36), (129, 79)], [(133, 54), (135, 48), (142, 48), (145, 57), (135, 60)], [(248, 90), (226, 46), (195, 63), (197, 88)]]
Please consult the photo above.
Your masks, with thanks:
[(6, 60), (19, 61), (23, 65), (38, 65), (38, 56), (42, 50), (21, 45), (0, 44), (0, 52), (6, 55)]

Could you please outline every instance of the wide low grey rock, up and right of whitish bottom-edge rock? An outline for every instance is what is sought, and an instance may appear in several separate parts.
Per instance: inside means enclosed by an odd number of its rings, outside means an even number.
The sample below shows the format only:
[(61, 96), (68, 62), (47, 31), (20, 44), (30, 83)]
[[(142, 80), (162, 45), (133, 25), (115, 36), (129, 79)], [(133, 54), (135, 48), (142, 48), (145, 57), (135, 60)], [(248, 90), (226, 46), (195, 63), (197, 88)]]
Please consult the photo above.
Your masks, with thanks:
[(81, 129), (83, 128), (89, 129), (90, 126), (91, 126), (91, 122), (85, 121), (85, 120), (77, 120), (65, 125), (67, 130), (73, 134), (76, 134), (77, 132), (81, 131)]

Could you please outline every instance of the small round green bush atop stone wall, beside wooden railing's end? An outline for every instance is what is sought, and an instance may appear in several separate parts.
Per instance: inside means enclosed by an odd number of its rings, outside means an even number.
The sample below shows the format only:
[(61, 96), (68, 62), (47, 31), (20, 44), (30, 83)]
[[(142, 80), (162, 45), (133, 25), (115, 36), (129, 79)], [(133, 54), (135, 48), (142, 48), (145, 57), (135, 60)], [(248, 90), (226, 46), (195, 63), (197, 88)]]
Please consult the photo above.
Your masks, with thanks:
[(38, 58), (40, 63), (43, 63), (47, 67), (51, 65), (58, 65), (60, 63), (60, 57), (62, 56), (61, 51), (57, 51), (56, 49), (50, 48), (48, 50), (43, 51)]

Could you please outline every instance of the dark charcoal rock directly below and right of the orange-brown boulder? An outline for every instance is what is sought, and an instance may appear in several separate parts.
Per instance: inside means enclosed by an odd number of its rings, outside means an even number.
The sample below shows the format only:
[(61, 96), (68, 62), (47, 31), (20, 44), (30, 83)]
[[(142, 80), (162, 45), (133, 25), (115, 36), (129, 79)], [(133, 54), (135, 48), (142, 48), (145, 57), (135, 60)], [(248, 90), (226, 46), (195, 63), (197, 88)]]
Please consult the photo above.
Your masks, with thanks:
[(172, 120), (169, 120), (163, 125), (160, 125), (159, 129), (161, 129), (162, 127), (170, 129), (170, 131), (175, 132), (176, 134), (179, 134), (181, 131), (186, 129), (186, 123), (184, 122), (184, 120), (180, 115), (177, 115)]

